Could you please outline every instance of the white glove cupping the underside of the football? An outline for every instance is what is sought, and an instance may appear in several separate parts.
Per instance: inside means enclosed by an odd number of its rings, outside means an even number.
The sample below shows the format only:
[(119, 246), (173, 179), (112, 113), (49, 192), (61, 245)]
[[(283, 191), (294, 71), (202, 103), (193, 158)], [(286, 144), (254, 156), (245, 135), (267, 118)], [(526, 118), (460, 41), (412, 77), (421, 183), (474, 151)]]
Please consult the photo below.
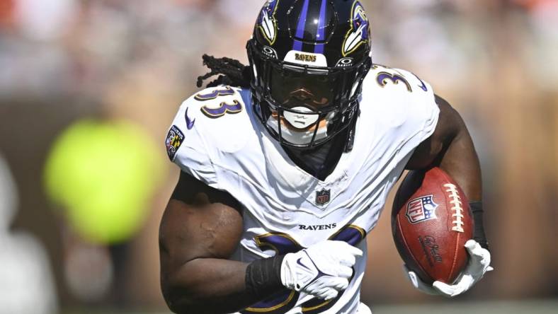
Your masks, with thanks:
[(469, 262), (455, 284), (445, 284), (442, 281), (434, 281), (432, 285), (425, 284), (415, 272), (410, 271), (406, 265), (403, 265), (405, 274), (409, 277), (411, 284), (424, 293), (448, 298), (458, 296), (474, 286), (486, 272), (494, 270), (490, 266), (489, 250), (482, 248), (475, 240), (468, 240), (465, 243), (465, 248), (469, 252)]

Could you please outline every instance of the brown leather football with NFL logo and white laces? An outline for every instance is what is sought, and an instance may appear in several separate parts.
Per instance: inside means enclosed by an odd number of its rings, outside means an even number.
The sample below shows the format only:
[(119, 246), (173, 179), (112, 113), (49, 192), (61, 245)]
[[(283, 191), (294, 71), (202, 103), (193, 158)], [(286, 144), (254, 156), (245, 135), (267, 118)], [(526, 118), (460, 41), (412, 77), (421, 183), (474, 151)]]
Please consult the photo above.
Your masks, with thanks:
[(399, 255), (424, 282), (452, 284), (467, 265), (465, 242), (473, 236), (467, 197), (440, 168), (409, 172), (392, 207)]

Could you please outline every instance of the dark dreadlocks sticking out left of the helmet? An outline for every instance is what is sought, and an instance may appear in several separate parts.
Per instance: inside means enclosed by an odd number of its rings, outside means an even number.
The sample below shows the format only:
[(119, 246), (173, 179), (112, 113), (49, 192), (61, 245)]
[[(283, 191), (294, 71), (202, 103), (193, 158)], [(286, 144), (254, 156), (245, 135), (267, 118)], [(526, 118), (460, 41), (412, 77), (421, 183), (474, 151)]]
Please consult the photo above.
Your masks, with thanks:
[(202, 56), (203, 64), (207, 66), (210, 71), (203, 76), (198, 76), (198, 87), (203, 86), (203, 81), (209, 79), (211, 76), (219, 75), (215, 81), (207, 84), (206, 87), (215, 87), (221, 84), (249, 88), (250, 87), (250, 67), (241, 64), (236, 59), (227, 57), (215, 58), (213, 56), (204, 54)]

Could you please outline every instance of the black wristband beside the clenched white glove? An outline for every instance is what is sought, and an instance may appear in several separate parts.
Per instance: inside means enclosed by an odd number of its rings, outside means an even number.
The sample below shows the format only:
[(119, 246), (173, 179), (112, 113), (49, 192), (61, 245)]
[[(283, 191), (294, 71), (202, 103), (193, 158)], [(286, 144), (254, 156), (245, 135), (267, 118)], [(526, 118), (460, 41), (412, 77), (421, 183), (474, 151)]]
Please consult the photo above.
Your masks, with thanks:
[(246, 292), (256, 298), (265, 298), (282, 289), (281, 265), (284, 258), (285, 255), (275, 255), (251, 262), (244, 277)]

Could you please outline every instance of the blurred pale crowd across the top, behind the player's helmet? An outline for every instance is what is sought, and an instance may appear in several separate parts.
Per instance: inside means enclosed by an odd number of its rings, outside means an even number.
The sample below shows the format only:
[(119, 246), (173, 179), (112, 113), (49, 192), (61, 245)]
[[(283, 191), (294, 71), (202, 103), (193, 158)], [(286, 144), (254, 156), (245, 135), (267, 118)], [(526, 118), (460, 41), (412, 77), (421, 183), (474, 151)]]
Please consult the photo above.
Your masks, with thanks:
[[(182, 90), (201, 71), (203, 52), (246, 59), (242, 48), (261, 2), (242, 1), (240, 8), (234, 0), (3, 0), (0, 93), (98, 96), (127, 76), (156, 77), (154, 88)], [(557, 79), (557, 1), (363, 2), (377, 60), (402, 60), (453, 85), (509, 49), (525, 66), (548, 61), (533, 71)]]

